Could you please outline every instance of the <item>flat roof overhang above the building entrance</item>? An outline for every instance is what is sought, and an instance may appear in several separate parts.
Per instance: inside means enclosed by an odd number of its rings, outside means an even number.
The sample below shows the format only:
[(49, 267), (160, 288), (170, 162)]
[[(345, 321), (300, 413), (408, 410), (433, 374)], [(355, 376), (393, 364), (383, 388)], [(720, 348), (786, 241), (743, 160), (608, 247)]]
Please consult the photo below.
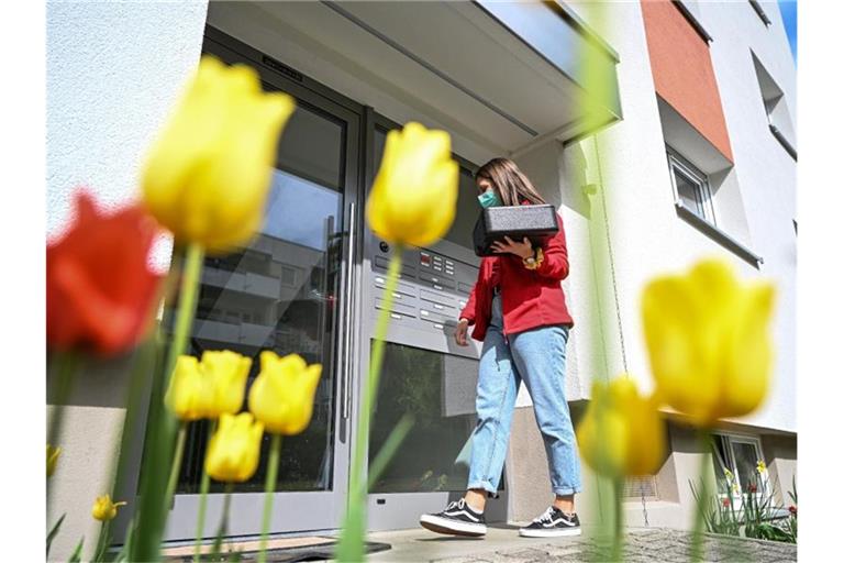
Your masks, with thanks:
[[(556, 2), (211, 2), (208, 23), (466, 157), (621, 119), (618, 55)], [(587, 51), (602, 92), (584, 89)], [(333, 68), (333, 70), (332, 70)]]

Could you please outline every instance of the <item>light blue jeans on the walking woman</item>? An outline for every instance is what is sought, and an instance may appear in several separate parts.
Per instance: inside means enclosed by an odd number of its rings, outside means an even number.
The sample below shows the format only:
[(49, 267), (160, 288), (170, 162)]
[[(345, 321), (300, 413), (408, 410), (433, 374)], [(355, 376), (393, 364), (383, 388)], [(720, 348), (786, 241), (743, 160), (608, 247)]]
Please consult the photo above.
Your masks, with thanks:
[(575, 430), (566, 401), (567, 341), (565, 325), (541, 327), (506, 338), (501, 298), (495, 297), (480, 355), (475, 404), (478, 423), (471, 437), (467, 488), (498, 492), (515, 396), (524, 382), (545, 442), (554, 494), (573, 495), (581, 490)]

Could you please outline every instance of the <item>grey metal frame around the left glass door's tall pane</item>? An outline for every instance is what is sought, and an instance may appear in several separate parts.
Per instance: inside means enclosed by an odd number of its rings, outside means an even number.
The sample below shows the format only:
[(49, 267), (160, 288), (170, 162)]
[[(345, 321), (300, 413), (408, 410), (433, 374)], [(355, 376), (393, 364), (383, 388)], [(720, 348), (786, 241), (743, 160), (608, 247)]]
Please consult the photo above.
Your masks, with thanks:
[[(341, 310), (334, 329), (334, 423), (332, 488), (324, 492), (280, 492), (273, 504), (273, 536), (289, 536), (314, 531), (333, 530), (340, 527), (345, 512), (348, 487), (349, 438), (354, 397), (353, 376), (355, 364), (354, 299), (358, 285), (359, 236), (362, 213), (359, 212), (363, 191), (363, 157), (365, 151), (364, 108), (359, 103), (315, 82), (284, 63), (237, 41), (236, 38), (206, 26), (202, 54), (210, 54), (226, 64), (242, 63), (254, 68), (265, 88), (280, 90), (297, 98), (297, 102), (315, 113), (322, 113), (346, 125), (344, 146), (343, 242), (341, 257), (341, 282), (338, 295)], [(284, 448), (284, 443), (282, 443)], [(202, 536), (212, 539), (216, 534), (222, 516), (224, 494), (209, 494), (206, 523)], [(170, 518), (165, 530), (165, 541), (196, 538), (196, 515), (199, 508), (198, 494), (176, 495)], [(232, 494), (229, 516), (229, 537), (249, 538), (260, 533), (264, 493)], [(291, 510), (291, 507), (296, 510)]]

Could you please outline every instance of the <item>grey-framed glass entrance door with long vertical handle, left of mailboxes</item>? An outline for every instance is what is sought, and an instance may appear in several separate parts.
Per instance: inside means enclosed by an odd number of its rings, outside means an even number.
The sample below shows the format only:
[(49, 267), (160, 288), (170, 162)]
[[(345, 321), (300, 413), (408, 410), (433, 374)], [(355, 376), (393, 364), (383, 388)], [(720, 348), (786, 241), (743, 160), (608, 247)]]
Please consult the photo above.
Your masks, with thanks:
[[(251, 357), (247, 394), (264, 350), (323, 365), (310, 426), (282, 441), (271, 531), (336, 528), (348, 466), (343, 396), (349, 371), (341, 335), (349, 314), (344, 296), (352, 290), (348, 233), (357, 214), (359, 114), (262, 64), (266, 57), (235, 53), (209, 37), (204, 51), (255, 67), (264, 88), (290, 93), (297, 109), (279, 144), (260, 232), (241, 252), (206, 260), (190, 353), (232, 350)], [(196, 534), (207, 439), (207, 422), (191, 424), (169, 540)], [(268, 443), (267, 434), (255, 476), (235, 486), (231, 536), (260, 532)], [(206, 538), (219, 526), (222, 492), (212, 483)]]

